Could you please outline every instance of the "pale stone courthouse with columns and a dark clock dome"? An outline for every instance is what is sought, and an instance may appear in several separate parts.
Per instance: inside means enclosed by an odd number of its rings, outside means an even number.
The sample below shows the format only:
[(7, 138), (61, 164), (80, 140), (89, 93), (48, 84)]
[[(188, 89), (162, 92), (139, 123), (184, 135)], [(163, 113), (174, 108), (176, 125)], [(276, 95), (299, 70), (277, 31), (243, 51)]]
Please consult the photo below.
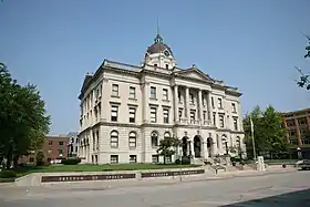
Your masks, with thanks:
[(245, 148), (240, 95), (195, 64), (178, 68), (157, 34), (142, 65), (104, 60), (85, 75), (79, 96), (79, 156), (97, 164), (163, 162), (156, 149), (165, 136), (183, 143), (167, 162), (234, 153)]

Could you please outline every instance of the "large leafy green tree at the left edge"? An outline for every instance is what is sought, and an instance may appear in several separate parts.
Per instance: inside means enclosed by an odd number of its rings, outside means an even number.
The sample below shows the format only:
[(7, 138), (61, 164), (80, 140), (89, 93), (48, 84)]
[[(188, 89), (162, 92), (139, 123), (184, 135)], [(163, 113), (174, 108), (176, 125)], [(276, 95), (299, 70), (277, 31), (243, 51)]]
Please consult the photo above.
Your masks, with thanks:
[(21, 86), (0, 64), (0, 155), (14, 166), (21, 155), (40, 148), (49, 133), (50, 116), (44, 101), (32, 84)]

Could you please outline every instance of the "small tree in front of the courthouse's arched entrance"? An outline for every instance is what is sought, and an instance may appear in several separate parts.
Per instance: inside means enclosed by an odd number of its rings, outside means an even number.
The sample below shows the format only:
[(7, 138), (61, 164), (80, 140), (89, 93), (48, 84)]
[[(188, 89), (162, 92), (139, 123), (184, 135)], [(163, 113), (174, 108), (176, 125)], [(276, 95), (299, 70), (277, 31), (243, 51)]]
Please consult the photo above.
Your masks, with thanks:
[(158, 155), (164, 156), (164, 164), (166, 164), (166, 157), (174, 155), (175, 148), (180, 146), (182, 142), (174, 136), (166, 136), (159, 141), (159, 147), (157, 149)]

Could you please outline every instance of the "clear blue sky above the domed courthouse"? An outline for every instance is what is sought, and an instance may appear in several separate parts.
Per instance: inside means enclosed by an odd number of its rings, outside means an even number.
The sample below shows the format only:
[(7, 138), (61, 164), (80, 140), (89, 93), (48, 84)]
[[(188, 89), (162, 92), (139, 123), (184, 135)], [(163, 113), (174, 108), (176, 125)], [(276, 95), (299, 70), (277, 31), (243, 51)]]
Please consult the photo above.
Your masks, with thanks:
[(238, 86), (242, 112), (309, 107), (293, 66), (304, 60), (309, 0), (4, 0), (0, 61), (21, 84), (37, 84), (52, 116), (51, 134), (79, 130), (78, 95), (104, 59), (140, 64), (156, 19), (178, 66), (195, 63)]

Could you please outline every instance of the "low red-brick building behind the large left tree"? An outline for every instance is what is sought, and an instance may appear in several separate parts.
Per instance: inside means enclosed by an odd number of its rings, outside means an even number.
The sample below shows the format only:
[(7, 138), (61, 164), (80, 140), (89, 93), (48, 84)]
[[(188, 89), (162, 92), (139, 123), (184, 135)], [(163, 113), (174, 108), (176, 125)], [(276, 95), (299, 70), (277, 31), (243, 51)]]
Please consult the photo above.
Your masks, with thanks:
[[(44, 154), (44, 162), (50, 163), (55, 159), (68, 158), (68, 144), (69, 144), (69, 137), (65, 135), (46, 136), (46, 139), (43, 143), (41, 149)], [(20, 163), (24, 163), (24, 164), (35, 163), (35, 155), (38, 152), (32, 151), (29, 156), (23, 156)]]

